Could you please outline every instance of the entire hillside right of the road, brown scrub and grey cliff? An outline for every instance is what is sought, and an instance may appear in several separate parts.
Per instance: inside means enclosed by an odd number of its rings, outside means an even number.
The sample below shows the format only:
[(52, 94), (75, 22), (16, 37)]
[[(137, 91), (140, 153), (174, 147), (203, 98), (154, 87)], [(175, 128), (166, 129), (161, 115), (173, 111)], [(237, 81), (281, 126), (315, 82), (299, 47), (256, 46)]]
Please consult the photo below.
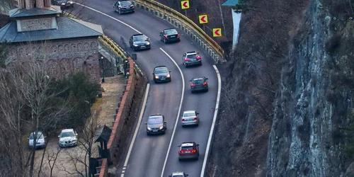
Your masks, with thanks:
[(350, 176), (354, 1), (248, 2), (208, 176)]

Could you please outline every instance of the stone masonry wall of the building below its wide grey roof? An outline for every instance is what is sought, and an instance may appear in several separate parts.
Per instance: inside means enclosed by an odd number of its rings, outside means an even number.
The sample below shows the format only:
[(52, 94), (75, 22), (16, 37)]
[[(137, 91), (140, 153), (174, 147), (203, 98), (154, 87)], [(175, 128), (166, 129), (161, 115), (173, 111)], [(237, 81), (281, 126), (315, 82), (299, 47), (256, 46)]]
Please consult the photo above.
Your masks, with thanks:
[(59, 79), (84, 71), (91, 81), (100, 82), (98, 38), (53, 40), (11, 46), (9, 64), (24, 63), (29, 58), (45, 61), (50, 74)]

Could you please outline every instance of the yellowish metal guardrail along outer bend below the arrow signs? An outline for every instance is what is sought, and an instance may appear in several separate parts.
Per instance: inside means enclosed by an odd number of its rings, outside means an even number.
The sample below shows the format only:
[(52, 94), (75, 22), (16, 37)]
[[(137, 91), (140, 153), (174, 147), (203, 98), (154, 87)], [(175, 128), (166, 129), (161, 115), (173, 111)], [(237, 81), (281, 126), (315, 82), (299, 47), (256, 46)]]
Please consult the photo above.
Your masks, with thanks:
[(182, 21), (183, 23), (188, 25), (188, 27), (192, 28), (196, 33), (198, 33), (198, 35), (200, 35), (205, 41), (207, 41), (207, 43), (210, 46), (212, 46), (217, 51), (217, 53), (219, 55), (224, 57), (224, 50), (222, 49), (222, 47), (220, 47), (217, 44), (217, 42), (215, 42), (215, 40), (210, 38), (210, 36), (207, 35), (207, 33), (205, 33), (204, 30), (202, 30), (202, 28), (200, 28), (197, 24), (195, 24), (193, 21), (191, 21), (186, 16), (183, 16), (182, 13), (179, 13), (178, 11), (174, 10), (173, 8), (170, 8), (168, 6), (165, 6), (164, 4), (161, 4), (161, 3), (153, 1), (153, 0), (135, 0), (135, 1), (145, 4), (145, 5), (148, 5), (148, 6), (156, 7), (159, 11), (164, 11), (164, 13), (167, 13), (170, 16), (177, 18), (179, 21)]

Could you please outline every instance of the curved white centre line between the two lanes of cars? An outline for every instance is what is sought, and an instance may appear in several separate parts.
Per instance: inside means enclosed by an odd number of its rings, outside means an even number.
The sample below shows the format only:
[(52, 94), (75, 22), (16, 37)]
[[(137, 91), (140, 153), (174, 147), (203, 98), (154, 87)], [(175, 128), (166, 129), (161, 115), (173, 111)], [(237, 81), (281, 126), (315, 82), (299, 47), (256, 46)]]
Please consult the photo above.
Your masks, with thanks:
[(164, 171), (165, 171), (165, 168), (166, 168), (166, 163), (167, 163), (167, 159), (169, 159), (169, 153), (170, 153), (170, 149), (171, 149), (171, 145), (172, 145), (172, 142), (173, 142), (173, 136), (175, 135), (175, 132), (176, 132), (176, 127), (177, 127), (177, 124), (178, 124), (178, 119), (179, 119), (179, 115), (181, 113), (181, 108), (182, 108), (182, 103), (183, 103), (183, 96), (184, 96), (184, 76), (183, 76), (183, 72), (181, 70), (180, 67), (178, 67), (178, 64), (175, 62), (175, 60), (172, 59), (172, 57), (167, 54), (165, 52), (165, 50), (163, 50), (162, 48), (160, 48), (160, 50), (162, 52), (164, 52), (167, 57), (169, 57), (172, 62), (176, 65), (176, 67), (178, 68), (179, 72), (181, 73), (181, 76), (182, 76), (182, 96), (181, 96), (181, 102), (179, 103), (179, 108), (178, 108), (178, 114), (177, 114), (177, 118), (176, 118), (176, 123), (175, 123), (175, 127), (173, 127), (173, 132), (172, 132), (172, 137), (171, 137), (171, 140), (170, 140), (170, 144), (169, 144), (169, 149), (167, 150), (167, 154), (166, 154), (166, 159), (164, 161), (164, 166), (162, 167), (162, 172), (161, 172), (161, 177), (164, 177)]

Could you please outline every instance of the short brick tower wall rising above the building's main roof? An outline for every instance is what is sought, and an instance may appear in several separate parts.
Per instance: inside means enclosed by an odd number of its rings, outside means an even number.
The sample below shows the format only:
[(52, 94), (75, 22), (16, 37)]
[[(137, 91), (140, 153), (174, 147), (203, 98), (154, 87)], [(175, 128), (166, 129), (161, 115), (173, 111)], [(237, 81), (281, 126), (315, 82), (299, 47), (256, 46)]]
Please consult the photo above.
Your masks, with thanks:
[(55, 23), (52, 17), (27, 19), (27, 20), (19, 20), (19, 21), (21, 24), (21, 31), (48, 30), (48, 29), (52, 29), (52, 23)]

